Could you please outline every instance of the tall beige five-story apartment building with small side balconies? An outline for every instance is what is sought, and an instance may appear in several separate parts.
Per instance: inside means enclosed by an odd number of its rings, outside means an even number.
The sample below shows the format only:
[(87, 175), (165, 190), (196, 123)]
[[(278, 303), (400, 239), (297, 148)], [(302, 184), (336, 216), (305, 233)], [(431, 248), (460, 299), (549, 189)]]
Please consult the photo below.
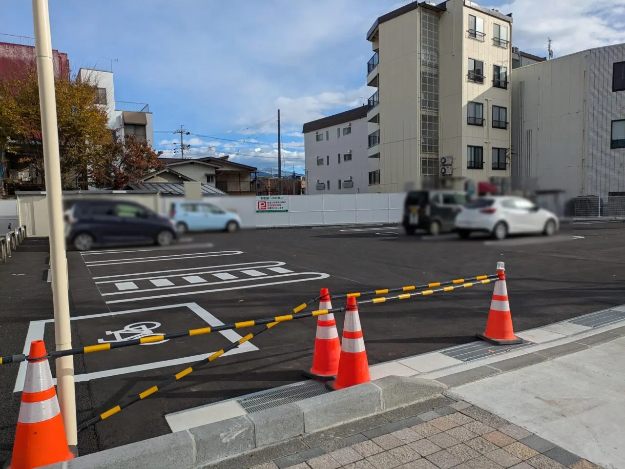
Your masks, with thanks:
[(367, 155), (381, 192), (423, 176), (509, 175), (512, 14), (468, 0), (411, 2), (367, 32)]

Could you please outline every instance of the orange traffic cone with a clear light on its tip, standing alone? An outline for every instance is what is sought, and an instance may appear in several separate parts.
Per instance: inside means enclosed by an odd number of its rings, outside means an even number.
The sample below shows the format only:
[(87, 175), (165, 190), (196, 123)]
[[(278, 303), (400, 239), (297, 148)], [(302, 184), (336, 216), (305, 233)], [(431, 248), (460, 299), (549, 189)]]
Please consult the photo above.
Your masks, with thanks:
[(497, 275), (499, 275), (499, 280), (495, 282), (495, 289), (492, 292), (486, 331), (478, 333), (477, 337), (493, 345), (523, 343), (525, 341), (522, 338), (514, 335), (512, 327), (512, 315), (506, 289), (506, 268), (503, 262), (497, 262)]

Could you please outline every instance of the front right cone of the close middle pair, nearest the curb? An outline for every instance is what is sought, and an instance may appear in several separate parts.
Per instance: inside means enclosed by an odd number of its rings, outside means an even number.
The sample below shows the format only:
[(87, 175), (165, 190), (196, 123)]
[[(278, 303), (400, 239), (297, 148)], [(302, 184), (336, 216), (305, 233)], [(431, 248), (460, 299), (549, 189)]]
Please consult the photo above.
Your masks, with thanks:
[(339, 371), (336, 381), (330, 383), (330, 386), (337, 390), (369, 381), (371, 381), (369, 362), (367, 361), (367, 352), (364, 349), (356, 297), (347, 297)]

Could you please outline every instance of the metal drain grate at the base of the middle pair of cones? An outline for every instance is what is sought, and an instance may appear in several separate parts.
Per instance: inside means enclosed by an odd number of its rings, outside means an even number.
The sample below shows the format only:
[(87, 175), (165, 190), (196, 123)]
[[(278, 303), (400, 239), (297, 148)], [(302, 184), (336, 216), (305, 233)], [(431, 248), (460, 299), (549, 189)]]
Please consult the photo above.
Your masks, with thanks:
[(237, 400), (247, 412), (259, 412), (280, 405), (297, 402), (309, 397), (321, 396), (330, 390), (324, 383), (315, 380), (289, 384), (280, 388), (257, 392)]

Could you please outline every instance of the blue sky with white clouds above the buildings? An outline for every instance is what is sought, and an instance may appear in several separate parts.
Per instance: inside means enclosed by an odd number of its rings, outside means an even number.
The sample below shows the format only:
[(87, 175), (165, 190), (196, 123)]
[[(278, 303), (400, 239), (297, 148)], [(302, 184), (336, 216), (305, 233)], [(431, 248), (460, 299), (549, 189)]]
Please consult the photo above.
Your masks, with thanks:
[[(362, 104), (377, 16), (397, 0), (52, 0), (53, 47), (79, 67), (114, 62), (119, 101), (154, 113), (158, 149), (181, 124), (196, 156), (231, 154), (277, 167), (281, 109), (285, 169), (302, 169), (303, 122)], [(481, 1), (514, 15), (513, 44), (556, 57), (625, 42), (625, 0)], [(32, 36), (31, 2), (0, 0), (0, 33)], [(1, 40), (1, 36), (0, 36)], [(163, 133), (161, 133), (163, 132)], [(242, 140), (246, 139), (245, 142)]]

